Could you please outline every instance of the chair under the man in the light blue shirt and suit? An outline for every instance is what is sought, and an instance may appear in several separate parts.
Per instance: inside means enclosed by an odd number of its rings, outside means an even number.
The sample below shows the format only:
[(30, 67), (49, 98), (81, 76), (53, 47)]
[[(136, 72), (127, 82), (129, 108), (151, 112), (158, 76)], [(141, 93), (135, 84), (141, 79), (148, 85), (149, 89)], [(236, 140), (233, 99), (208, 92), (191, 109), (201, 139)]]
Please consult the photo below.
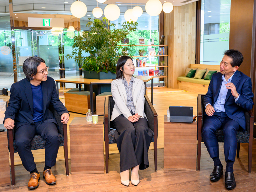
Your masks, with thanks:
[[(204, 142), (202, 138), (202, 127), (203, 127), (203, 114), (205, 111), (204, 108), (204, 96), (205, 94), (200, 94), (197, 97), (197, 170), (200, 171), (200, 160), (201, 160), (201, 142)], [(245, 111), (244, 112), (245, 119), (246, 119), (246, 130), (237, 131), (236, 138), (237, 138), (237, 153), (236, 156), (239, 157), (240, 151), (240, 143), (249, 143), (248, 146), (248, 172), (252, 172), (252, 137), (253, 137), (253, 119), (254, 115), (252, 111)], [(223, 131), (218, 130), (216, 132), (217, 140), (219, 143), (224, 142)], [(200, 142), (201, 141), (201, 142)]]

